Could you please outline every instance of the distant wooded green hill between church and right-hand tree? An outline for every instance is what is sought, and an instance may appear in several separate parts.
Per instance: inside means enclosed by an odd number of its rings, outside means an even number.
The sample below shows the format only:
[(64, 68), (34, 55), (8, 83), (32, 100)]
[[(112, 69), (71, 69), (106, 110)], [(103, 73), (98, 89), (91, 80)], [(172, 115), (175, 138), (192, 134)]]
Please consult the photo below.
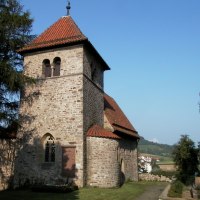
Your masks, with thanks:
[(173, 145), (159, 144), (155, 142), (150, 142), (141, 137), (138, 144), (139, 153), (152, 154), (164, 157), (172, 157), (171, 153), (173, 150)]

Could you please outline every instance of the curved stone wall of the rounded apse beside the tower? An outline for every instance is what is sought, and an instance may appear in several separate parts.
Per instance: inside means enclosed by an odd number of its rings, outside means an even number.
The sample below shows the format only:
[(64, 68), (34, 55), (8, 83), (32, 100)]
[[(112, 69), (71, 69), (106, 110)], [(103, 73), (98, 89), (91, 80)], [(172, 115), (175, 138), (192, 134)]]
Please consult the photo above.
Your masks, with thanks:
[(118, 146), (118, 140), (97, 137), (87, 138), (88, 185), (103, 188), (119, 186)]

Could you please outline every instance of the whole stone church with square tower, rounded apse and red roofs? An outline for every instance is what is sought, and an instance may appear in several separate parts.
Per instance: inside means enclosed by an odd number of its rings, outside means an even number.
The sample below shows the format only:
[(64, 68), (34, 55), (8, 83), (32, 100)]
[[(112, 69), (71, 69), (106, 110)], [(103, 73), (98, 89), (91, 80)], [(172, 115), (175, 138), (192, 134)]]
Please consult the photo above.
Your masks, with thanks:
[(19, 50), (27, 86), (20, 114), (15, 186), (34, 183), (117, 187), (138, 180), (139, 135), (104, 92), (109, 66), (71, 16)]

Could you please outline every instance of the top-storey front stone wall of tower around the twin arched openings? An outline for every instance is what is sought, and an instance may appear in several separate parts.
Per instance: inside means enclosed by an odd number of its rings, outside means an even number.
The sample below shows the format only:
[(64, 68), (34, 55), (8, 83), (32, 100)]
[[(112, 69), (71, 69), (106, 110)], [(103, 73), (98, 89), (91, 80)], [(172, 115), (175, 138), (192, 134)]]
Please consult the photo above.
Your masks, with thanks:
[(44, 78), (43, 61), (49, 59), (52, 64), (55, 57), (61, 58), (60, 76), (83, 73), (83, 46), (75, 45), (24, 55), (25, 74), (34, 78)]

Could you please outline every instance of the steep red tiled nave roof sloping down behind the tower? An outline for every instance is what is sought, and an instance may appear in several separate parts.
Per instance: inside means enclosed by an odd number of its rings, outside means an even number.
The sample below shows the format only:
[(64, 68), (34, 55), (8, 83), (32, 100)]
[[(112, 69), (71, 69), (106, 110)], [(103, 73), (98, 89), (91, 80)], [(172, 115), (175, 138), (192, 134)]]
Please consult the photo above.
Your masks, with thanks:
[(113, 98), (104, 95), (104, 111), (115, 131), (139, 138), (139, 135)]

